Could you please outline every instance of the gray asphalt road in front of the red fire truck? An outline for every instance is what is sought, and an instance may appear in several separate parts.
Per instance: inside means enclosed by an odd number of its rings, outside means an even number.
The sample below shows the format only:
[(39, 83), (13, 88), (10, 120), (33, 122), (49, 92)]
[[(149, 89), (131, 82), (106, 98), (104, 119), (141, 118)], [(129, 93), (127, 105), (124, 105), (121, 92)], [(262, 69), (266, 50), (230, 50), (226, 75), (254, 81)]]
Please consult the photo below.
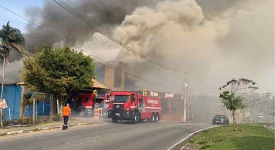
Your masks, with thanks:
[(67, 130), (2, 138), (0, 149), (167, 149), (207, 123), (104, 121)]

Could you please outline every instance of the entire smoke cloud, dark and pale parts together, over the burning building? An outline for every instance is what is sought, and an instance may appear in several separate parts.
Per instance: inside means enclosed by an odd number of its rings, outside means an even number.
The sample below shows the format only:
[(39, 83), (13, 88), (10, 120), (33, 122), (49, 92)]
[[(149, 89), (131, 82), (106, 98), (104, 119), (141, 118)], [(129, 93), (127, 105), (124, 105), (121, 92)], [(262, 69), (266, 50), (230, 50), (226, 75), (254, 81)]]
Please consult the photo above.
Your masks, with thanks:
[[(274, 90), (270, 85), (274, 82), (272, 0), (71, 0), (67, 3), (90, 23), (147, 59), (178, 71), (134, 56), (52, 1), (45, 1), (42, 8), (26, 10), (29, 19), (44, 28), (28, 24), (29, 34), (49, 42), (77, 45), (91, 53), (104, 49), (102, 55), (113, 54), (106, 49), (118, 49), (114, 60), (127, 64), (125, 70), (168, 85), (136, 82), (145, 88), (181, 92), (181, 82), (188, 72), (190, 90), (217, 90), (232, 77), (253, 79), (262, 91)], [(42, 45), (32, 38), (26, 40), (30, 52), (34, 45)]]

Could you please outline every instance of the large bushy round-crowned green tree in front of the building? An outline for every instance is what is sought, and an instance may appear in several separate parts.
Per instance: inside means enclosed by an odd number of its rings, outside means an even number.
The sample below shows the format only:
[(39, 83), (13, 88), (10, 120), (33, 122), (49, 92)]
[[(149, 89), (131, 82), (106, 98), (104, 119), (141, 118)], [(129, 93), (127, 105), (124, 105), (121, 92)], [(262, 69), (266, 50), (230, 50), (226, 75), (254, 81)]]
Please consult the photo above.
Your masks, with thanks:
[(45, 45), (23, 60), (21, 78), (30, 90), (51, 93), (60, 99), (61, 108), (73, 93), (92, 85), (95, 63), (68, 47), (53, 48)]

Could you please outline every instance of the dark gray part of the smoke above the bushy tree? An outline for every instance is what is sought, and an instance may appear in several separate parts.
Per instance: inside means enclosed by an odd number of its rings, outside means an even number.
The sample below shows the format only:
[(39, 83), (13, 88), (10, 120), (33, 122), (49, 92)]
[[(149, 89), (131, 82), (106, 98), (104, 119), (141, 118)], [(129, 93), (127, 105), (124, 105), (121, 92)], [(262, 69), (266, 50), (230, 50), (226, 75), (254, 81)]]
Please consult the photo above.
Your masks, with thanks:
[[(73, 8), (87, 17), (89, 23), (100, 26), (107, 32), (119, 25), (126, 14), (136, 7), (156, 3), (154, 0), (69, 0)], [(31, 35), (49, 42), (63, 42), (66, 45), (82, 44), (94, 33), (91, 26), (84, 24), (51, 0), (45, 1), (43, 8), (31, 7), (26, 10), (32, 21), (41, 24), (40, 28), (29, 24)], [(50, 37), (50, 38), (49, 38)], [(32, 48), (36, 43), (31, 43)]]

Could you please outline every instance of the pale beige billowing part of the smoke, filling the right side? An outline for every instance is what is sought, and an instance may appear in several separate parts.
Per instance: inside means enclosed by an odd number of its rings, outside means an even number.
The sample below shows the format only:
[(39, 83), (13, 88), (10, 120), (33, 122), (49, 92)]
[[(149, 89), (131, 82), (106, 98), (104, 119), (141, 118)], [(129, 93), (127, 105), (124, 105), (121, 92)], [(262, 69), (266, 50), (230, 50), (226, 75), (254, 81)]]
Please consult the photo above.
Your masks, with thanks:
[[(112, 32), (139, 54), (177, 72), (150, 64), (98, 33), (83, 47), (118, 48), (117, 60), (127, 63), (127, 70), (169, 85), (166, 89), (160, 87), (163, 90), (179, 92), (184, 72), (188, 72), (190, 86), (195, 89), (217, 91), (232, 77), (244, 76), (257, 81), (262, 91), (273, 91), (269, 84), (274, 82), (273, 1), (235, 0), (206, 12), (202, 7), (207, 10), (209, 4), (199, 2), (201, 6), (195, 0), (162, 1), (156, 6), (136, 8)], [(212, 8), (220, 6), (212, 4)], [(257, 42), (261, 40), (264, 42)], [(255, 63), (256, 59), (261, 63)], [(257, 69), (268, 73), (259, 74)]]

